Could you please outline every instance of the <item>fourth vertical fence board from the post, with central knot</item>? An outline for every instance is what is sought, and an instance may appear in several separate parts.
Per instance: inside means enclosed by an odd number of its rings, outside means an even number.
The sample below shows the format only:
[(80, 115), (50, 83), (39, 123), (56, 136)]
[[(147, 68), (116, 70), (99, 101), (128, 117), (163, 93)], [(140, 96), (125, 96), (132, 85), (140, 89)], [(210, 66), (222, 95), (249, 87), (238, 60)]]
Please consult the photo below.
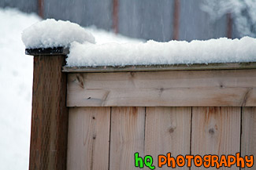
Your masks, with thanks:
[[(240, 148), (240, 115), (240, 107), (193, 107), (191, 154), (236, 155)], [(192, 164), (194, 169), (198, 168)], [(234, 165), (232, 169), (239, 168)]]

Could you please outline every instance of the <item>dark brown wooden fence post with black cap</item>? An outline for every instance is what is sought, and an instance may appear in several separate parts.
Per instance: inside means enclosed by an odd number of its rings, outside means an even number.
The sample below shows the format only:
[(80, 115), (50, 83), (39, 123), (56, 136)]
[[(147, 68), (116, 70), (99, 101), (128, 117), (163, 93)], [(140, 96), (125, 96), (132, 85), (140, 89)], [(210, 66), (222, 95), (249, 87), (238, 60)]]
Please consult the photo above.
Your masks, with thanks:
[(67, 49), (26, 49), (34, 56), (30, 170), (65, 170), (68, 109), (65, 65)]

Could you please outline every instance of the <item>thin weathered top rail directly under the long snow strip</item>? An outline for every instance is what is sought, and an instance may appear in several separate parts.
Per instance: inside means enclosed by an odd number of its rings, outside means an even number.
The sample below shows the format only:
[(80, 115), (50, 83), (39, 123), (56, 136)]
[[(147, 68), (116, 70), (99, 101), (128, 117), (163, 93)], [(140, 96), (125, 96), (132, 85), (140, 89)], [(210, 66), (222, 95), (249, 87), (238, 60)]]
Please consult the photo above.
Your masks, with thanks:
[(127, 71), (203, 71), (203, 70), (235, 70), (254, 69), (256, 63), (194, 63), (173, 65), (137, 65), (137, 66), (98, 66), (98, 67), (63, 67), (63, 72), (87, 73), (87, 72), (127, 72)]

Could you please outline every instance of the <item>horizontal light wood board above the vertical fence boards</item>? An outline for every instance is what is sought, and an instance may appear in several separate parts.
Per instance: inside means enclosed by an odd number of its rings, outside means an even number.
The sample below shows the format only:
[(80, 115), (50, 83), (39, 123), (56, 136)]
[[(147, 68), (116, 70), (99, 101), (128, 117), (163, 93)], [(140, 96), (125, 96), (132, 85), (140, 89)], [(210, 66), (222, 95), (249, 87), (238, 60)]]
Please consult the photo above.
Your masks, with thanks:
[(256, 70), (68, 74), (68, 107), (254, 107)]

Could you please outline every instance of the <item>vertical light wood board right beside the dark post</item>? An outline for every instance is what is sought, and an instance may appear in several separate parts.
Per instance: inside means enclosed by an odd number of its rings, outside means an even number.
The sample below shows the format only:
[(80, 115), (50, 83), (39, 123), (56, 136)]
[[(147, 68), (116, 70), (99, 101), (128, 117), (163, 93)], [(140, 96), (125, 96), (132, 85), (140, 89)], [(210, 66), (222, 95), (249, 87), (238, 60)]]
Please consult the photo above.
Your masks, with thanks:
[(110, 107), (69, 109), (67, 169), (109, 168)]

